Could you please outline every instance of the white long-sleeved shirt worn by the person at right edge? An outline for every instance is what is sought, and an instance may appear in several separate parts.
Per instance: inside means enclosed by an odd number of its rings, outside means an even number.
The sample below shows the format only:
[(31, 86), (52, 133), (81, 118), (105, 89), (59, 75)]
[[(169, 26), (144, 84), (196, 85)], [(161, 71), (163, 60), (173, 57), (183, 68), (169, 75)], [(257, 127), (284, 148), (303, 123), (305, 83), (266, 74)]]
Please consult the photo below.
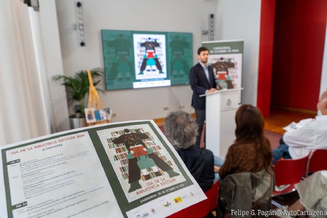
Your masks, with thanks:
[(303, 121), (306, 122), (300, 122), (298, 128), (287, 131), (283, 136), (293, 159), (305, 157), (313, 150), (327, 150), (327, 115)]

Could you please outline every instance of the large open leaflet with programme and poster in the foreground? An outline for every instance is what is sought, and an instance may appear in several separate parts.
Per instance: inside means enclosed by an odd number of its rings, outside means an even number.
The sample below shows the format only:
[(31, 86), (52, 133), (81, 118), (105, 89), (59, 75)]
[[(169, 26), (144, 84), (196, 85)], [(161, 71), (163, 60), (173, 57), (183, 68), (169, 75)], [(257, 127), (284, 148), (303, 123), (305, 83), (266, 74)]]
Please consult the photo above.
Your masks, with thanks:
[(1, 147), (0, 217), (165, 217), (206, 199), (153, 120)]

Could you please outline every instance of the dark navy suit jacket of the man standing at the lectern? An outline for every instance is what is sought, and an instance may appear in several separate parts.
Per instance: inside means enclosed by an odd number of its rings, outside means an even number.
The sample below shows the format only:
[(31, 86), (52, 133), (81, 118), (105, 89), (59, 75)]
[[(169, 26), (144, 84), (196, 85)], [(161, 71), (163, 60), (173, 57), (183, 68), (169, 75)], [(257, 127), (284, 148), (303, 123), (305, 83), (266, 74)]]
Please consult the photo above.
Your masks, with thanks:
[(205, 97), (199, 97), (199, 95), (205, 94), (208, 89), (217, 87), (214, 70), (211, 66), (208, 66), (208, 72), (209, 81), (200, 63), (194, 65), (190, 70), (190, 85), (193, 90), (192, 107), (194, 109), (205, 110)]

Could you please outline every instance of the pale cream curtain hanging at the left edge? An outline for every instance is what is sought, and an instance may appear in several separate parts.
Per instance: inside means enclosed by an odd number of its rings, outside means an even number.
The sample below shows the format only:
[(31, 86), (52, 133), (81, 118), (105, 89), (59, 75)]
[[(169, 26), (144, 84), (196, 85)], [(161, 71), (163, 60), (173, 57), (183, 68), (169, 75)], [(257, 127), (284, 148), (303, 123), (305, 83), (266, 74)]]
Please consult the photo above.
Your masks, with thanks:
[(51, 133), (30, 20), (20, 0), (0, 1), (0, 146)]

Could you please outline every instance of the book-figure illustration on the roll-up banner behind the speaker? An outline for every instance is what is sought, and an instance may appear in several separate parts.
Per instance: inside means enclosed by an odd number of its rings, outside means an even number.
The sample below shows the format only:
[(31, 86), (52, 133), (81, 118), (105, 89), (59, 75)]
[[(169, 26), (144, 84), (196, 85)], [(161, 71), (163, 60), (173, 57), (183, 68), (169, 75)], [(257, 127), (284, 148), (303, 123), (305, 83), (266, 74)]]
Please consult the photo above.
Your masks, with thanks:
[(235, 63), (224, 61), (224, 58), (221, 57), (218, 62), (212, 64), (211, 66), (216, 69), (218, 84), (223, 89), (234, 88), (231, 78), (228, 75), (228, 68), (235, 68)]

